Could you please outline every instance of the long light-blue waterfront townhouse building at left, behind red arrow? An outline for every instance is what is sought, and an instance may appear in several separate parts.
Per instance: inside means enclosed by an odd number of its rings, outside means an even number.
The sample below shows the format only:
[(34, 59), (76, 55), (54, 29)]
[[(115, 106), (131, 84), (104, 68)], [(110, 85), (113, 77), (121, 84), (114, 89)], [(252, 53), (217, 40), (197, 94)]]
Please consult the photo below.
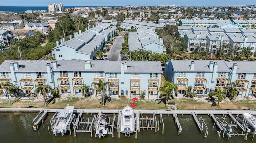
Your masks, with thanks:
[[(36, 85), (50, 85), (61, 95), (81, 96), (82, 86), (90, 86), (92, 97), (98, 97), (93, 82), (108, 82), (107, 95), (157, 99), (161, 83), (160, 61), (4, 61), (0, 81), (17, 84), (23, 94), (34, 94)], [(6, 94), (0, 88), (1, 94)], [(48, 92), (48, 91), (47, 91)]]

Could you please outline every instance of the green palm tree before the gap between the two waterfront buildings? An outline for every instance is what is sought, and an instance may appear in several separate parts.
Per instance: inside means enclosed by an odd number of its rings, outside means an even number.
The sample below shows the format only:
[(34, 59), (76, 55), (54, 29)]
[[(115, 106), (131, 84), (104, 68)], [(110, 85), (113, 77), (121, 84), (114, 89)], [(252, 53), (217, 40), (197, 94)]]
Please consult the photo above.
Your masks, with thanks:
[(161, 92), (160, 97), (165, 101), (166, 105), (168, 104), (168, 100), (173, 98), (173, 90), (175, 93), (177, 92), (177, 85), (172, 82), (165, 81), (164, 86), (160, 87), (160, 89), (157, 91), (157, 93)]

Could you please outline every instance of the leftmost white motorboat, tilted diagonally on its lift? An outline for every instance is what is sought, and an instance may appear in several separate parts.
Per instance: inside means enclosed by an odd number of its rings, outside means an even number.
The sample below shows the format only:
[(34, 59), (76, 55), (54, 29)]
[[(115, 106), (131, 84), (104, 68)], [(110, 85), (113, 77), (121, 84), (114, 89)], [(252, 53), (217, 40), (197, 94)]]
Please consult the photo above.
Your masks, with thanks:
[(62, 136), (67, 132), (70, 120), (72, 118), (74, 106), (66, 106), (64, 110), (61, 110), (56, 118), (56, 122), (53, 126), (52, 132), (55, 136), (57, 133), (61, 133)]

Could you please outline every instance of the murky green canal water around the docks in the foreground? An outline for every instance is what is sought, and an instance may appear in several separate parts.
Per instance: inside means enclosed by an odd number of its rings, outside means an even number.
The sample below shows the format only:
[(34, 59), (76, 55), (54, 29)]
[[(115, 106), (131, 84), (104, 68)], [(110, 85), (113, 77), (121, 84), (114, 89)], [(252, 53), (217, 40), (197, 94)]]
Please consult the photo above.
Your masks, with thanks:
[[(99, 139), (98, 137), (91, 137), (90, 133), (77, 133), (74, 137), (69, 131), (64, 135), (58, 135), (55, 137), (50, 128), (50, 118), (53, 114), (49, 114), (41, 124), (38, 131), (32, 129), (32, 120), (37, 113), (0, 113), (0, 143), (255, 143), (251, 140), (252, 135), (248, 135), (248, 140), (245, 141), (243, 136), (232, 136), (227, 139), (218, 137), (217, 128), (213, 127), (214, 123), (209, 116), (203, 115), (206, 125), (208, 126), (208, 137), (204, 137), (204, 131), (201, 133), (196, 126), (196, 123), (191, 115), (178, 115), (178, 119), (182, 126), (182, 133), (178, 135), (177, 127), (174, 123), (172, 115), (164, 115), (164, 134), (162, 129), (155, 133), (154, 129), (141, 129), (138, 133), (137, 139), (135, 134), (131, 137), (125, 137), (120, 133), (120, 139), (118, 139), (118, 132), (115, 130), (114, 138), (112, 135), (108, 135)], [(96, 115), (96, 114), (94, 114)], [(91, 115), (84, 115), (85, 118), (90, 118)], [(110, 116), (112, 122), (113, 115)], [(144, 117), (146, 115), (143, 115)], [(152, 116), (152, 115), (151, 115)], [(200, 115), (197, 115), (198, 119)], [(218, 116), (219, 118), (221, 116)], [(157, 116), (160, 119), (159, 116)], [(227, 117), (226, 117), (227, 118)], [(225, 135), (226, 136), (226, 135)]]

